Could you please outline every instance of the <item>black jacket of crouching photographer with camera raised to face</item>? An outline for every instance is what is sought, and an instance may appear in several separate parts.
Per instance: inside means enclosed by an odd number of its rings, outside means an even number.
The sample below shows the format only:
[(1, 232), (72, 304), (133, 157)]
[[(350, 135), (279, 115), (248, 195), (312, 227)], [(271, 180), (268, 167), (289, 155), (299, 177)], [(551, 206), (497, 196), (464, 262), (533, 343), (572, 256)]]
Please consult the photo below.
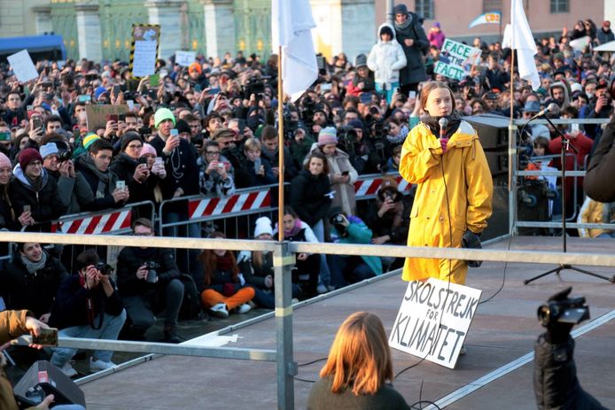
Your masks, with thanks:
[[(115, 283), (111, 281), (113, 289)], [(93, 323), (88, 313), (88, 298), (91, 298)], [(65, 329), (73, 326), (97, 325), (99, 315), (103, 313), (119, 316), (124, 306), (121, 304), (120, 295), (114, 290), (107, 298), (103, 285), (99, 284), (95, 289), (85, 289), (81, 283), (80, 275), (68, 276), (58, 289), (56, 303), (51, 311), (49, 325), (52, 328)]]

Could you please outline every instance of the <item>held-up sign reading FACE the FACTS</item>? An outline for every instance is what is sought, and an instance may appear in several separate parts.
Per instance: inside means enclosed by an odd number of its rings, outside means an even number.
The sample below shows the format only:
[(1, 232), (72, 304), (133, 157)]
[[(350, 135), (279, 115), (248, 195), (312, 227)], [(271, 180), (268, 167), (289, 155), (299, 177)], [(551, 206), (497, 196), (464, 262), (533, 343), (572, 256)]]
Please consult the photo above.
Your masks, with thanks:
[(482, 51), (467, 44), (446, 39), (440, 49), (440, 61), (433, 68), (434, 73), (461, 81), (470, 73), (472, 65), (479, 64)]

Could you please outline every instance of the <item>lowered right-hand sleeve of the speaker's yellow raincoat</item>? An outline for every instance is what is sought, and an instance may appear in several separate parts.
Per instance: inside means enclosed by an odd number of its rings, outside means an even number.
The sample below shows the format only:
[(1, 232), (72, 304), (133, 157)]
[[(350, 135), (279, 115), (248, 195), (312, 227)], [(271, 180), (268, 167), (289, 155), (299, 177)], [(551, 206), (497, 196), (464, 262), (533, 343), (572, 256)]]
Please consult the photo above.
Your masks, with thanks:
[(474, 139), (471, 152), (465, 159), (465, 175), (468, 187), (466, 221), (468, 229), (479, 234), (487, 228), (487, 219), (493, 211), (494, 181), (478, 137)]

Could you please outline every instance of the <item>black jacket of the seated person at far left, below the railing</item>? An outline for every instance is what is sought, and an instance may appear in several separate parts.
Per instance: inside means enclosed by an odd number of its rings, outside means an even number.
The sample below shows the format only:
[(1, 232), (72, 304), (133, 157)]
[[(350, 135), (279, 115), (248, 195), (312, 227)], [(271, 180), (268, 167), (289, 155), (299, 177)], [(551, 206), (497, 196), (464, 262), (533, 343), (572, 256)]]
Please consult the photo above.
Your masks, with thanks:
[(45, 266), (34, 274), (27, 271), (19, 251), (4, 267), (4, 273), (0, 274), (4, 275), (0, 281), (0, 293), (8, 309), (27, 309), (35, 313), (36, 318), (51, 313), (60, 283), (68, 277), (68, 272), (58, 259), (52, 258), (45, 250), (43, 252), (47, 254)]

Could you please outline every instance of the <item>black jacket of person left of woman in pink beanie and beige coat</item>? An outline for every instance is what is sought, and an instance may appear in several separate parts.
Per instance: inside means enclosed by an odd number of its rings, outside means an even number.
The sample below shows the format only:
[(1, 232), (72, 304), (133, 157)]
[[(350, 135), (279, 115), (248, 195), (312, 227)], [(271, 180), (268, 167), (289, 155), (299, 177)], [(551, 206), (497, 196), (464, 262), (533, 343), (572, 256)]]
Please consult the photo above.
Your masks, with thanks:
[(292, 180), (291, 206), (299, 215), (300, 220), (313, 227), (329, 213), (331, 197), (329, 175), (320, 174), (314, 176), (307, 169), (301, 170), (299, 175)]

